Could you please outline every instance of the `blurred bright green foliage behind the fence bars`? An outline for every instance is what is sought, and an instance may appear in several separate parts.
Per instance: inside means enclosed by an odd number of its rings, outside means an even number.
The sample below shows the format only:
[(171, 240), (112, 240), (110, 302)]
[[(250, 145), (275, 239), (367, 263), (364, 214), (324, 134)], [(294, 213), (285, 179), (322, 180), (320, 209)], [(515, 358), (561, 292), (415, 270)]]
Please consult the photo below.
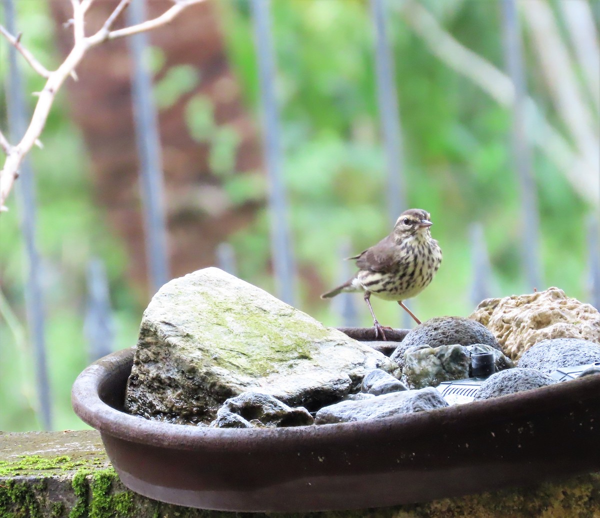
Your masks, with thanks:
[[(503, 69), (497, 2), (427, 0), (423, 2), (467, 47)], [(232, 66), (248, 109), (256, 115), (258, 81), (250, 10), (246, 0), (217, 2)], [(17, 2), (23, 41), (47, 67), (58, 64), (53, 24), (41, 0)], [(278, 94), (282, 117), (284, 174), (289, 190), (289, 223), (298, 264), (323, 279), (341, 281), (341, 249), (359, 252), (391, 230), (385, 205), (386, 171), (377, 118), (373, 28), (368, 2), (290, 0), (272, 2), (277, 50)], [(518, 183), (510, 142), (511, 114), (469, 79), (431, 55), (391, 9), (389, 37), (404, 138), (406, 198), (431, 212), (433, 234), (444, 252), (430, 288), (409, 305), (422, 320), (442, 314), (468, 315), (471, 254), (469, 228), (485, 229), (494, 285), (493, 296), (532, 291), (520, 273), (521, 227)], [(596, 20), (597, 22), (597, 20)], [(0, 75), (5, 78), (7, 44), (0, 41)], [(529, 54), (526, 58), (535, 59)], [(149, 55), (154, 70), (164, 66), (160, 49)], [(28, 91), (43, 85), (21, 61)], [(550, 111), (547, 93), (533, 67), (532, 96)], [(155, 85), (158, 108), (168, 108), (202, 81), (202, 71), (177, 66)], [(2, 87), (0, 86), (0, 89)], [(2, 91), (4, 99), (4, 91)], [(31, 98), (31, 105), (35, 98)], [(208, 143), (216, 174), (235, 204), (260, 199), (266, 192), (259, 172), (235, 173), (239, 136), (218, 127), (211, 100), (194, 96), (185, 111), (191, 136)], [(0, 120), (5, 109), (0, 103)], [(80, 428), (70, 409), (70, 387), (88, 364), (83, 335), (85, 269), (101, 257), (109, 273), (118, 329), (115, 349), (135, 343), (142, 307), (125, 278), (124, 247), (106, 227), (92, 199), (89, 164), (79, 130), (68, 117), (68, 97), (58, 96), (43, 133), (44, 149), (31, 153), (37, 181), (38, 245), (44, 264), (49, 356), (55, 427)], [(541, 154), (534, 153), (538, 178), (544, 285), (563, 288), (586, 300), (585, 218), (590, 212), (571, 186)], [(8, 214), (0, 216), (0, 281), (10, 310), (0, 315), (0, 429), (35, 430), (34, 360), (25, 339), (23, 263), (16, 192)], [(247, 230), (230, 236), (238, 275), (269, 291), (268, 214)], [(298, 283), (300, 284), (300, 283)], [(302, 309), (328, 325), (339, 322), (329, 303), (308, 296), (298, 285)], [(370, 325), (362, 297), (356, 295), (361, 325)], [(373, 300), (380, 321), (400, 325), (400, 308)], [(11, 320), (7, 311), (13, 311)], [(16, 323), (15, 323), (16, 321)], [(14, 366), (14, 368), (13, 368)]]

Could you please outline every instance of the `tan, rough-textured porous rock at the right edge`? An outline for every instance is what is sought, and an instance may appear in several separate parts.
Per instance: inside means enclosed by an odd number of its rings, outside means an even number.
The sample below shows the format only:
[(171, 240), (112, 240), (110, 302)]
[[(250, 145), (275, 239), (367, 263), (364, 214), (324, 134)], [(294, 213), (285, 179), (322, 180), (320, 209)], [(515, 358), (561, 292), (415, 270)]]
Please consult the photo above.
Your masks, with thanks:
[(469, 318), (490, 329), (513, 360), (549, 338), (583, 338), (600, 344), (598, 309), (567, 297), (559, 288), (485, 299)]

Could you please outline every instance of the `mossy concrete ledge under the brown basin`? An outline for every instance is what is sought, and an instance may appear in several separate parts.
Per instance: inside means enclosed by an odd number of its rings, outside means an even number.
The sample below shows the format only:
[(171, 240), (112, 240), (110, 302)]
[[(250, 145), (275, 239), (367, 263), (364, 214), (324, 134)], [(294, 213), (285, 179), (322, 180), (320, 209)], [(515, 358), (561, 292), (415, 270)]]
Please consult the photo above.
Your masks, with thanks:
[[(110, 465), (95, 430), (0, 432), (1, 518), (233, 518), (244, 514), (163, 504), (131, 492)], [(376, 511), (248, 513), (247, 516), (594, 518), (600, 516), (600, 473), (528, 489), (446, 498)]]

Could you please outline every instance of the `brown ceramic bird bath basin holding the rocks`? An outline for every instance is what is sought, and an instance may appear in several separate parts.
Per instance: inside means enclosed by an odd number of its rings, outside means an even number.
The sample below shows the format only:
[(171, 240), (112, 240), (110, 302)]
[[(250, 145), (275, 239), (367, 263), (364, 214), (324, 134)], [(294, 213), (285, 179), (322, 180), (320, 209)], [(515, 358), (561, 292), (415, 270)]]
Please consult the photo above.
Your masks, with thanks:
[(296, 428), (221, 429), (125, 413), (133, 349), (86, 368), (77, 415), (123, 483), (172, 504), (319, 511), (429, 501), (600, 469), (600, 376), (429, 412)]

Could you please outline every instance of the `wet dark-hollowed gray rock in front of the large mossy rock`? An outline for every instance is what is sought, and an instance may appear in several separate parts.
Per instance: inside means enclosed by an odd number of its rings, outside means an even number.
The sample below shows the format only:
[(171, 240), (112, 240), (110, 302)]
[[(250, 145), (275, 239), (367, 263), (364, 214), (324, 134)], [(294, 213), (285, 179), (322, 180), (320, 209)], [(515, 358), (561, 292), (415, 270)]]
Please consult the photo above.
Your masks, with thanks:
[(269, 394), (248, 391), (229, 398), (211, 423), (216, 428), (306, 426), (314, 418), (304, 407), (292, 408)]

